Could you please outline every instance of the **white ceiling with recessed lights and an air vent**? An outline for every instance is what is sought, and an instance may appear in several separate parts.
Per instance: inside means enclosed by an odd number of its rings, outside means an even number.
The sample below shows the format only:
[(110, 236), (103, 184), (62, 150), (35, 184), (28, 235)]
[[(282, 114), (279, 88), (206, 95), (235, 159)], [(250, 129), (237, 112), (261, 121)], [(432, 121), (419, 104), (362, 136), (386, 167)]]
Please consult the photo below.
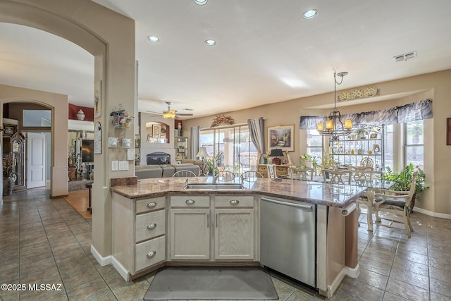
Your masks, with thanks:
[[(95, 0), (136, 22), (139, 111), (194, 117), (451, 68), (449, 0)], [(302, 13), (319, 11), (312, 20)], [(161, 42), (152, 43), (148, 35)], [(207, 47), (205, 39), (216, 39)], [(47, 32), (0, 23), (0, 83), (92, 106), (94, 58)], [(395, 62), (393, 56), (416, 51)]]

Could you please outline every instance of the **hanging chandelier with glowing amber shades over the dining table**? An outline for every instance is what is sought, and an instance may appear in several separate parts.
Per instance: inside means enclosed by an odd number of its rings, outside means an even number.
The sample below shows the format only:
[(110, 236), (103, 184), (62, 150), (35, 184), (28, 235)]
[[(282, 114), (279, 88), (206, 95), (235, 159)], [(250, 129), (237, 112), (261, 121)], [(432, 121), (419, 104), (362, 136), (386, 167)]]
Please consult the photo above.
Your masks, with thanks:
[[(337, 109), (337, 85), (341, 85), (343, 82), (343, 77), (347, 75), (347, 72), (333, 73), (333, 80), (335, 82), (335, 89), (333, 90), (333, 111), (330, 112), (327, 121), (326, 128), (322, 122), (318, 123), (317, 130), (320, 135), (332, 136), (332, 140), (336, 140), (338, 136), (347, 135), (352, 131), (352, 121), (346, 119), (343, 124), (341, 120), (340, 111)], [(337, 81), (337, 76), (341, 78), (340, 82)]]

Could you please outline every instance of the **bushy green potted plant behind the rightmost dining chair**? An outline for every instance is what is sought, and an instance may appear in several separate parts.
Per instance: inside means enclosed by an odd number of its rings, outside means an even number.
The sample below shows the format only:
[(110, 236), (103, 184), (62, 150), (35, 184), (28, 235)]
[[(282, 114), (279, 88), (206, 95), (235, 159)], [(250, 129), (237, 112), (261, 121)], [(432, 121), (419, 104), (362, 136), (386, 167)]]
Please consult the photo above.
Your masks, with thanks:
[(423, 192), (424, 190), (429, 188), (428, 184), (426, 183), (426, 174), (421, 168), (419, 168), (419, 166), (414, 166), (414, 164), (412, 163), (407, 164), (407, 166), (404, 166), (402, 171), (400, 171), (399, 173), (393, 171), (392, 168), (390, 168), (390, 166), (388, 166), (385, 169), (387, 170), (387, 172), (383, 173), (381, 178), (383, 180), (392, 181), (393, 185), (390, 187), (390, 189), (395, 191), (409, 191), (412, 186), (412, 178), (414, 176), (414, 173), (417, 172), (415, 182), (415, 193), (414, 197), (412, 197), (411, 211), (413, 211), (416, 194)]

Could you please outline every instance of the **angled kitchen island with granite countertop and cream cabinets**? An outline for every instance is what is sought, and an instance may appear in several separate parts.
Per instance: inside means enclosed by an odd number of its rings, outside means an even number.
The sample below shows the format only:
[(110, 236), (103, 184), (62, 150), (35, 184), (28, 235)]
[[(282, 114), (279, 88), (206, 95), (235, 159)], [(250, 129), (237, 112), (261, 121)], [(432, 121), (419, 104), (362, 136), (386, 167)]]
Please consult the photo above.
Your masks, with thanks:
[(357, 212), (342, 211), (355, 208), (364, 188), (270, 178), (244, 182), (242, 189), (184, 189), (186, 184), (185, 178), (159, 178), (111, 188), (112, 262), (125, 280), (169, 265), (261, 264), (260, 226), (266, 221), (260, 204), (266, 200), (308, 204), (315, 214), (309, 287), (330, 297), (346, 275), (357, 277)]

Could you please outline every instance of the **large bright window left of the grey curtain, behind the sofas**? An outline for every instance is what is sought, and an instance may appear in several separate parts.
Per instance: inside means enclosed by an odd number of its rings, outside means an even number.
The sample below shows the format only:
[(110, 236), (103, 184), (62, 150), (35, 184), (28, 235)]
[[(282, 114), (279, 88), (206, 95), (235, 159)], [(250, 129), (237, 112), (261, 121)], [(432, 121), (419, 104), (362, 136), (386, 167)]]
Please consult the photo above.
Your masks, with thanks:
[(199, 147), (206, 147), (209, 157), (228, 171), (241, 173), (257, 168), (258, 152), (250, 139), (247, 125), (200, 130)]

